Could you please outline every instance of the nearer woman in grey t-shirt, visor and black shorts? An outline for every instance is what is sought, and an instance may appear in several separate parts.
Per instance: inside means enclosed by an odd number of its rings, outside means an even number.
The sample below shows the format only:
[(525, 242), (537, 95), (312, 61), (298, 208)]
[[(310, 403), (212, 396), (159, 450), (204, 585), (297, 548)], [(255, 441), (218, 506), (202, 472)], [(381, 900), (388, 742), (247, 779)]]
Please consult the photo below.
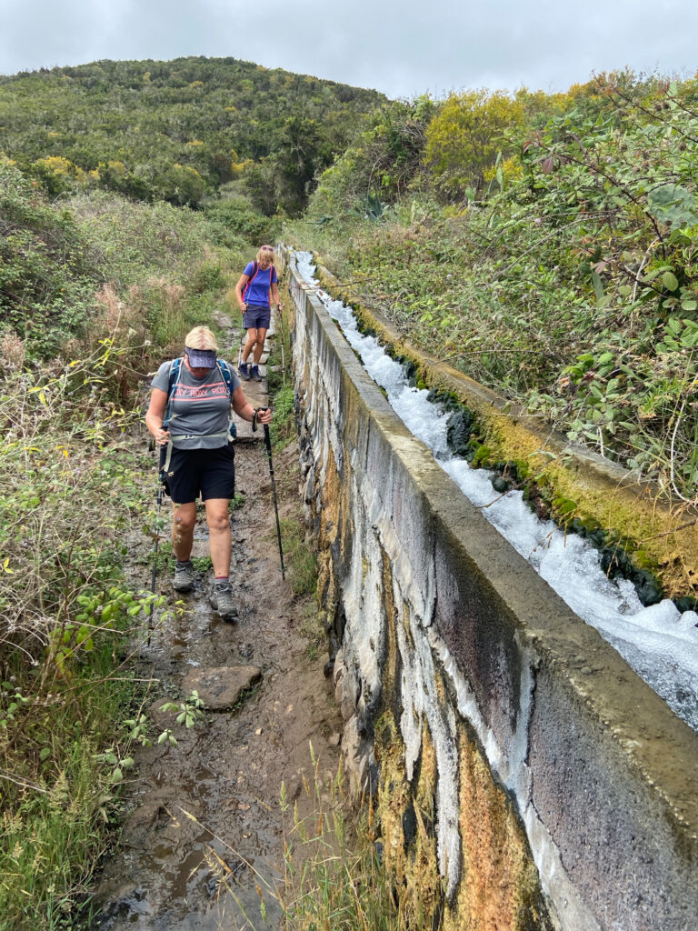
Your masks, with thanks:
[(184, 358), (163, 362), (154, 376), (145, 423), (161, 447), (163, 479), (172, 498), (172, 549), (177, 557), (172, 584), (177, 591), (194, 587), (191, 555), (196, 499), (201, 494), (216, 576), (211, 604), (221, 617), (231, 619), (235, 601), (228, 505), (235, 494), (235, 451), (229, 436), (230, 407), (250, 423), (256, 418), (268, 424), (272, 412), (252, 407), (233, 367), (217, 358), (217, 349), (208, 327), (187, 333)]

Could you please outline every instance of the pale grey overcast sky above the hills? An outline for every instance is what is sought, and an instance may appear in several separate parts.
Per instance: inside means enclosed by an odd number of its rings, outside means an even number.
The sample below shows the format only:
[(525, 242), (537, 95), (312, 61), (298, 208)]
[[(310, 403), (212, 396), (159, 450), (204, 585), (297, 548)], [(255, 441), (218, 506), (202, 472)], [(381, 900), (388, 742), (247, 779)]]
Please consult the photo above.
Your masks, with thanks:
[(382, 90), (564, 90), (592, 72), (698, 70), (698, 0), (0, 0), (0, 74), (233, 56)]

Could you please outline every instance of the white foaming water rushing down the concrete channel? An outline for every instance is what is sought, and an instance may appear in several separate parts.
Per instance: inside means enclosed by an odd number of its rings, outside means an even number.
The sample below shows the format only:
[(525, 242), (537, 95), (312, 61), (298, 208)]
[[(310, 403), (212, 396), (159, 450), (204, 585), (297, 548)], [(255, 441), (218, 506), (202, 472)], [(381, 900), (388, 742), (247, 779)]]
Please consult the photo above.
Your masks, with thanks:
[[(297, 252), (296, 261), (302, 277), (316, 285), (311, 254)], [(596, 627), (669, 707), (698, 731), (698, 614), (681, 614), (668, 599), (643, 607), (632, 582), (607, 578), (600, 553), (585, 539), (537, 518), (526, 506), (523, 492), (495, 492), (493, 473), (471, 468), (450, 452), (446, 440), (450, 413), (429, 401), (428, 391), (409, 385), (404, 367), (386, 355), (375, 337), (358, 331), (351, 307), (321, 290), (317, 296), (371, 378), (385, 389), (397, 415), (432, 450), (438, 465), (570, 608)]]

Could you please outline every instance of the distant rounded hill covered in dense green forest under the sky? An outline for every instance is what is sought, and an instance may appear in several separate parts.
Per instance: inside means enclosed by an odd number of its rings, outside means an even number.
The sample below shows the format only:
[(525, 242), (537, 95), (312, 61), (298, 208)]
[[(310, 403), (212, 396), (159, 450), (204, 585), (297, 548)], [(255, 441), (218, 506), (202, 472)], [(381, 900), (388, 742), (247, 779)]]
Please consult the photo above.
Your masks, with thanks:
[(197, 206), (237, 180), (257, 209), (293, 214), (384, 100), (233, 58), (96, 61), (0, 77), (0, 153), (53, 196)]

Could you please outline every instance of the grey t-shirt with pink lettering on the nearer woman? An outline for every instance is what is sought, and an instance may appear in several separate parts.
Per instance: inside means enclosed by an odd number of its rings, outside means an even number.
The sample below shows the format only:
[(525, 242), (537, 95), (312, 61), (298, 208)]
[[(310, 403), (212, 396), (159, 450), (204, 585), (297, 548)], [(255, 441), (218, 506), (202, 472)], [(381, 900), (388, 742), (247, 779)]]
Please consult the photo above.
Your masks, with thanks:
[[(219, 361), (221, 365), (227, 364)], [(172, 362), (163, 362), (151, 382), (152, 387), (168, 391), (171, 366)], [(232, 393), (240, 385), (240, 380), (231, 366), (228, 366), (228, 371), (231, 373)], [(227, 444), (230, 397), (218, 365), (208, 372), (206, 378), (195, 378), (181, 362), (169, 405), (169, 433), (172, 445), (177, 449), (216, 450)]]

